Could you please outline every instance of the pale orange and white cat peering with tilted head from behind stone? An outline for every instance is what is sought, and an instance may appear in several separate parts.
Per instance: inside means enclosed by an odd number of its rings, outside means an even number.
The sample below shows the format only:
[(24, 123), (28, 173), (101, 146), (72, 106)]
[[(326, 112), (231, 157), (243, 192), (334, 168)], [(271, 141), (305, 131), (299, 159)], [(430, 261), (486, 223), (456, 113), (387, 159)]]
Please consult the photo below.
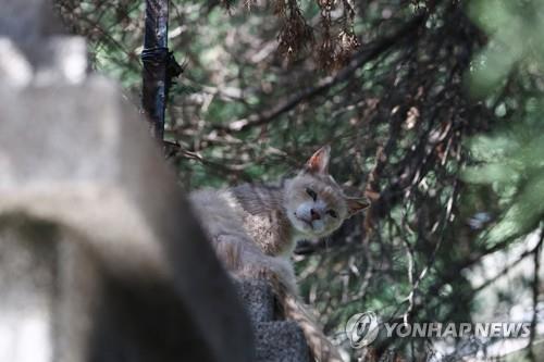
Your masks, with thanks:
[(189, 195), (205, 232), (224, 266), (236, 278), (263, 278), (284, 316), (301, 327), (317, 361), (342, 361), (307, 307), (299, 300), (289, 257), (301, 239), (331, 235), (369, 207), (346, 197), (329, 174), (331, 148), (320, 148), (293, 178), (277, 185), (245, 184)]

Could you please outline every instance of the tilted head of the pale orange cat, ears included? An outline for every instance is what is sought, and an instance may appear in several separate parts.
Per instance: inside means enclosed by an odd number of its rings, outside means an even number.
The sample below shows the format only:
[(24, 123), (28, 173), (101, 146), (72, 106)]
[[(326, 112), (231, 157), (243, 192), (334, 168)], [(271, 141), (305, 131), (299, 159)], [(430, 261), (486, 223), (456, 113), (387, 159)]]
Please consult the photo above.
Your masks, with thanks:
[(331, 148), (322, 147), (286, 185), (284, 205), (290, 224), (306, 237), (330, 235), (369, 207), (366, 198), (346, 197), (329, 174)]

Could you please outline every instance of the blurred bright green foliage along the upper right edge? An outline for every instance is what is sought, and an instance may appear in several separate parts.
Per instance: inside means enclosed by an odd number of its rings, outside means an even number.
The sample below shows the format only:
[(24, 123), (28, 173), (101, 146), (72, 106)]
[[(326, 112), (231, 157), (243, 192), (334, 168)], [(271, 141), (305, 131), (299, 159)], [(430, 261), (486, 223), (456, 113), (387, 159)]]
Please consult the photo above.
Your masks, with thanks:
[[(478, 165), (465, 173), (467, 180), (490, 185), (499, 198), (500, 217), (484, 235), (496, 244), (527, 235), (544, 216), (540, 201), (544, 196), (544, 108), (536, 101), (544, 89), (534, 82), (543, 74), (544, 47), (539, 34), (544, 30), (544, 1), (474, 1), (470, 10), (490, 37), (475, 59), (480, 66), (471, 72), (472, 90), (497, 104), (497, 116), (511, 113), (492, 135), (472, 139), (470, 149)], [(518, 95), (497, 98), (512, 84), (518, 85)]]

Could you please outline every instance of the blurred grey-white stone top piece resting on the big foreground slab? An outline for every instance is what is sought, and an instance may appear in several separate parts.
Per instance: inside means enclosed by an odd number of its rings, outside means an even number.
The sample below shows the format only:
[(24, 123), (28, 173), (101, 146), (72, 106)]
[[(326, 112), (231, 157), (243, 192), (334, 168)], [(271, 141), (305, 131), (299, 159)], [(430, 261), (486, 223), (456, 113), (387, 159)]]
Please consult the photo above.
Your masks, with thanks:
[(87, 48), (83, 37), (62, 35), (50, 0), (0, 0), (0, 82), (30, 84), (83, 82)]

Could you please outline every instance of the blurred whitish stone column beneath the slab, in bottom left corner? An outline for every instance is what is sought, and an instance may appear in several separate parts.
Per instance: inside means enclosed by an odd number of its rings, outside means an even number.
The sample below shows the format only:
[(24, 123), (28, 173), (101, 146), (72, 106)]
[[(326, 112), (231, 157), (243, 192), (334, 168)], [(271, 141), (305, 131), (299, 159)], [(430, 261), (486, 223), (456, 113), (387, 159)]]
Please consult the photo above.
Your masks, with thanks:
[[(0, 224), (0, 361), (51, 361), (57, 252), (54, 227)], [(39, 244), (32, 241), (37, 235)]]

